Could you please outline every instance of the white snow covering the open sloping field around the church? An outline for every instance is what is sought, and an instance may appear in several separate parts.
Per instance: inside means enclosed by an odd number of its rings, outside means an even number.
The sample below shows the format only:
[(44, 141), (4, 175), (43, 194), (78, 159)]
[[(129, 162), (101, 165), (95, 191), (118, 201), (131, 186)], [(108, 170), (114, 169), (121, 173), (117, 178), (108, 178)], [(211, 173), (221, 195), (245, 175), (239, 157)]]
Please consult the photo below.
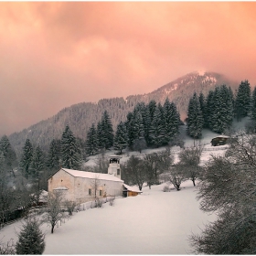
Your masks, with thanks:
[[(194, 141), (184, 132), (186, 146)], [(213, 147), (211, 138), (216, 133), (204, 131), (200, 144), (204, 145), (201, 165), (210, 155), (222, 155), (226, 146)], [(198, 142), (197, 142), (198, 144)], [(159, 148), (155, 151), (164, 150)], [(152, 150), (144, 150), (150, 153)], [(177, 155), (179, 149), (173, 148)], [(109, 152), (107, 155), (112, 155)], [(128, 159), (124, 154), (122, 161)], [(177, 161), (176, 156), (176, 161)], [(95, 164), (95, 156), (86, 165)], [(216, 219), (199, 209), (197, 187), (191, 181), (182, 183), (182, 189), (163, 192), (165, 184), (143, 187), (137, 197), (117, 198), (114, 207), (108, 203), (102, 208), (90, 208), (75, 212), (53, 234), (47, 224), (42, 226), (46, 234), (45, 254), (187, 254), (191, 250), (188, 236), (200, 233), (208, 221)], [(0, 240), (16, 242), (18, 221), (0, 229)]]

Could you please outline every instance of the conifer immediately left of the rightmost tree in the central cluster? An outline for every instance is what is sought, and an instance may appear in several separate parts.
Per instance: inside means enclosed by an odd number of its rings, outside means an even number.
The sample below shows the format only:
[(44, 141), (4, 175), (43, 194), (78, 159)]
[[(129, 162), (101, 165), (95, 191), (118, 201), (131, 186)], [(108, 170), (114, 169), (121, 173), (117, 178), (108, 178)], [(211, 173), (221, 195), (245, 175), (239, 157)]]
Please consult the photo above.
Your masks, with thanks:
[(164, 123), (163, 123), (163, 114), (160, 111), (160, 104), (155, 109), (153, 121), (150, 127), (149, 136), (152, 144), (155, 144), (156, 147), (162, 145), (165, 141), (164, 137)]

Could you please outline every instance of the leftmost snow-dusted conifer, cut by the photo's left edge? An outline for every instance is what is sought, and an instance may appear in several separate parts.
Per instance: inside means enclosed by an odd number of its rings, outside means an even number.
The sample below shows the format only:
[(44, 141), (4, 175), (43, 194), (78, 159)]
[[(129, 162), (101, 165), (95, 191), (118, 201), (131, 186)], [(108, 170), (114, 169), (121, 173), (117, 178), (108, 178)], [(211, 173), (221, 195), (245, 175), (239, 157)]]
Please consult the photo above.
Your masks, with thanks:
[(5, 167), (15, 176), (14, 167), (17, 165), (16, 152), (6, 135), (2, 136), (0, 140), (0, 151), (2, 151), (5, 156)]

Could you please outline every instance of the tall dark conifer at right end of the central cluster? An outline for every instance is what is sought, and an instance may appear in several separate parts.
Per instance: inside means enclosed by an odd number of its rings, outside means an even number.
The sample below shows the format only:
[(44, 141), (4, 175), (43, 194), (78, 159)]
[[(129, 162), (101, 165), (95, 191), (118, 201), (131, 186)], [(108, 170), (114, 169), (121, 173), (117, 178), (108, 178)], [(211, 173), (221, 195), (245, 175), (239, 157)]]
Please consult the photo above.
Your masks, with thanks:
[(178, 134), (179, 126), (179, 113), (176, 110), (176, 104), (170, 102), (166, 98), (164, 103), (164, 114), (163, 114), (163, 123), (164, 123), (164, 136), (165, 143), (169, 143), (172, 139)]

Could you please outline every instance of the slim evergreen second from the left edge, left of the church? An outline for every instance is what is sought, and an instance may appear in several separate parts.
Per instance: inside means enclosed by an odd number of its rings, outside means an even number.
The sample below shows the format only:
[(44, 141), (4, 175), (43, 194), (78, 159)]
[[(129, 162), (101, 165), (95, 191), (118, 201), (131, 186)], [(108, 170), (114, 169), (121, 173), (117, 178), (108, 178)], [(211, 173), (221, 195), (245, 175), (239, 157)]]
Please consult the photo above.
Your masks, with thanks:
[(21, 160), (19, 162), (19, 167), (22, 170), (23, 176), (25, 176), (26, 178), (30, 175), (29, 167), (32, 162), (32, 157), (33, 157), (33, 147), (29, 139), (27, 139), (23, 147), (23, 154), (21, 156)]

